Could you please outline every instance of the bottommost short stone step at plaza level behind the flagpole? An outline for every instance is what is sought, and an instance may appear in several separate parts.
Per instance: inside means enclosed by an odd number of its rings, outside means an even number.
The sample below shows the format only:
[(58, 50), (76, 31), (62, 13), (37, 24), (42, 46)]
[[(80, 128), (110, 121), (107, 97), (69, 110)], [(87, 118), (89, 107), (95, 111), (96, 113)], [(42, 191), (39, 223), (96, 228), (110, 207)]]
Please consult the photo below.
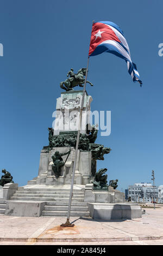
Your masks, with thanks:
[[(42, 211), (42, 216), (67, 216), (67, 211)], [(70, 216), (90, 216), (88, 211), (71, 211)]]

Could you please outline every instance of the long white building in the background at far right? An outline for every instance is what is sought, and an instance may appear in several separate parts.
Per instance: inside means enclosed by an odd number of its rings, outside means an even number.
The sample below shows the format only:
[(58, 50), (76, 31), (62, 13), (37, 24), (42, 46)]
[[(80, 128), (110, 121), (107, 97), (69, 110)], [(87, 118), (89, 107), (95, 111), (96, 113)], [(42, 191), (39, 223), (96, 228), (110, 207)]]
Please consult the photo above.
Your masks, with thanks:
[(128, 186), (128, 199), (131, 202), (163, 203), (163, 185), (153, 187), (152, 183), (135, 183)]

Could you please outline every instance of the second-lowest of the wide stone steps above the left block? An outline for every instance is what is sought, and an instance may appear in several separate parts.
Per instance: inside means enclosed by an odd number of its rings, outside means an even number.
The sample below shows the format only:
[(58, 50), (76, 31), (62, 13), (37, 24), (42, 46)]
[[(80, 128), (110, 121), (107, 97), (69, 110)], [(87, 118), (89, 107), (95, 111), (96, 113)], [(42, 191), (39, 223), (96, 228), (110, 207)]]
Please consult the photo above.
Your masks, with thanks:
[[(62, 195), (60, 195), (60, 194), (18, 194), (18, 193), (15, 193), (14, 195), (13, 195), (13, 197), (24, 197), (24, 198), (26, 198), (26, 197), (30, 197), (31, 199), (33, 199), (33, 198), (67, 198), (67, 199), (69, 199), (69, 196), (68, 195), (64, 195), (64, 194), (62, 194)], [(75, 197), (73, 197), (73, 198), (76, 198), (76, 199), (84, 199), (84, 195), (75, 195)]]

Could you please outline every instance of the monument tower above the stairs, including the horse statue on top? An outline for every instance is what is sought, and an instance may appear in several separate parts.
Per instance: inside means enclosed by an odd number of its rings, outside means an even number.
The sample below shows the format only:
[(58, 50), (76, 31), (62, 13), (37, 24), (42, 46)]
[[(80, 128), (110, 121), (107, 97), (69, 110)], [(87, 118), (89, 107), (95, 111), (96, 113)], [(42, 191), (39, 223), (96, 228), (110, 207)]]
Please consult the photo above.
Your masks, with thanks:
[[(60, 87), (65, 92), (61, 92), (61, 96), (57, 98), (54, 127), (48, 128), (49, 145), (41, 150), (39, 174), (34, 180), (35, 184), (45, 184), (46, 186), (71, 184), (83, 96), (83, 91), (74, 91), (73, 88), (78, 85), (83, 87), (86, 68), (79, 69), (77, 74), (74, 74), (73, 71), (71, 68), (67, 73), (67, 77), (70, 77), (60, 83)], [(92, 86), (91, 82), (86, 82)], [(104, 160), (104, 154), (110, 153), (111, 148), (95, 143), (98, 129), (95, 125), (91, 126), (90, 124), (91, 102), (92, 97), (85, 91), (74, 184), (85, 186), (85, 201), (90, 200), (91, 188), (91, 201), (98, 201), (93, 195), (93, 190), (97, 190), (96, 193), (105, 190), (107, 197), (109, 193), (108, 200), (102, 194), (101, 201), (109, 203), (115, 199), (110, 199), (110, 193), (114, 192), (113, 188), (106, 183), (107, 175), (104, 173), (107, 169), (100, 169), (97, 172), (96, 162)], [(120, 194), (122, 195), (121, 192)], [(123, 197), (119, 198), (119, 201), (123, 201)]]

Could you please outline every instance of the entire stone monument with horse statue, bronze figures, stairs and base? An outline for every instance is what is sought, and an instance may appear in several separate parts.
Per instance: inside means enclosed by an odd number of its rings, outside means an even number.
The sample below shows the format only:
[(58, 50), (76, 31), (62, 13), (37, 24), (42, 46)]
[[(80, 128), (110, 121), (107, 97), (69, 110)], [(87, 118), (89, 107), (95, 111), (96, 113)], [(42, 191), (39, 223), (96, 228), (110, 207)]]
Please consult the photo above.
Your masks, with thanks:
[[(84, 212), (75, 210), (72, 216), (91, 216), (103, 219), (141, 217), (140, 207), (134, 210), (135, 206), (131, 209), (124, 205), (124, 194), (116, 190), (117, 180), (110, 180), (108, 185), (108, 175), (105, 173), (107, 169), (97, 171), (97, 160), (104, 160), (104, 155), (109, 154), (111, 148), (96, 144), (98, 129), (95, 124), (90, 124), (92, 97), (84, 91), (83, 105), (83, 91), (73, 90), (75, 86), (83, 87), (86, 69), (79, 69), (77, 74), (73, 71), (71, 68), (67, 74), (68, 78), (60, 83), (60, 87), (65, 91), (61, 92), (61, 96), (57, 98), (54, 127), (47, 128), (49, 144), (41, 150), (39, 173), (33, 180), (28, 181), (27, 186), (19, 188), (16, 193), (14, 190), (16, 186), (8, 186), (5, 189), (8, 190), (8, 194), (12, 194), (11, 200), (7, 201), (5, 214), (30, 217), (39, 217), (42, 214), (66, 216), (66, 211), (51, 209), (67, 207), (73, 170), (73, 184), (76, 188), (73, 205), (78, 206), (78, 210), (83, 207), (89, 210)], [(86, 82), (92, 86), (91, 82)], [(81, 109), (82, 128), (79, 135), (78, 124)], [(76, 145), (78, 145), (77, 151)], [(74, 165), (75, 152), (76, 165)], [(74, 169), (73, 166), (76, 168)], [(117, 207), (117, 204), (122, 205)], [(132, 215), (131, 211), (134, 212)]]

